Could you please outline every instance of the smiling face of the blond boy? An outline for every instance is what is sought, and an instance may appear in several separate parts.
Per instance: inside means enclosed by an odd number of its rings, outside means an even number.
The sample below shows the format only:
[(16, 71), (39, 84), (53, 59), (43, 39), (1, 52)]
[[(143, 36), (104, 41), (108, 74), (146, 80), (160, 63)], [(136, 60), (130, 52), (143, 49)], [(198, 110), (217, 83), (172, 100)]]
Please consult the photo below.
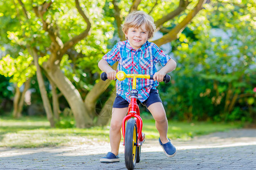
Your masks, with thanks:
[(147, 41), (148, 31), (145, 24), (143, 24), (139, 28), (130, 27), (125, 36), (129, 40), (131, 47), (138, 50)]

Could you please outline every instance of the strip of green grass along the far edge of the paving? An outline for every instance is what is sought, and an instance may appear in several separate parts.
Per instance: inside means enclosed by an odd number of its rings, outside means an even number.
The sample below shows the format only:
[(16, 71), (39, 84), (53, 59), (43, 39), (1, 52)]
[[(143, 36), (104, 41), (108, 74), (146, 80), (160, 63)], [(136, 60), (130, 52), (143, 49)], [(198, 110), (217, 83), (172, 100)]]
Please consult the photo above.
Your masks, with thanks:
[[(170, 121), (168, 137), (189, 140), (196, 135), (241, 127), (241, 124), (231, 123)], [(143, 118), (143, 132), (146, 134), (146, 139), (157, 139), (159, 137), (154, 120)], [(109, 126), (89, 129), (61, 129), (49, 128), (49, 122), (44, 117), (22, 117), (19, 120), (14, 120), (10, 117), (0, 118), (0, 147), (73, 146), (108, 141)]]

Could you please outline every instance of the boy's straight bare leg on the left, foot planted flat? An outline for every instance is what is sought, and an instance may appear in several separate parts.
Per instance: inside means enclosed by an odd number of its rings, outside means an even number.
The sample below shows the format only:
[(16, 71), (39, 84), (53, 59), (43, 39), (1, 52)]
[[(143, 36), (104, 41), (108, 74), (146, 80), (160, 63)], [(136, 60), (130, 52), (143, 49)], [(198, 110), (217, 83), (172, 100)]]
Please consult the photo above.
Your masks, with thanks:
[(128, 108), (113, 108), (112, 109), (112, 118), (110, 121), (110, 146), (111, 152), (115, 155), (118, 155), (119, 145), (121, 142), (121, 128), (122, 120), (126, 116)]

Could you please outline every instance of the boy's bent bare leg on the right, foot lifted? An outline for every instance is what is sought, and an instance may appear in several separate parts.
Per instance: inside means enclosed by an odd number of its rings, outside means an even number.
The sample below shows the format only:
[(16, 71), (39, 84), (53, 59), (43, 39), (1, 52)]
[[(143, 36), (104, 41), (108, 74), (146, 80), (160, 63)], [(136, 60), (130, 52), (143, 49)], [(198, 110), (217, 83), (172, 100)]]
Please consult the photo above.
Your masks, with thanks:
[(162, 141), (162, 143), (169, 142), (167, 138), (168, 121), (166, 117), (166, 111), (164, 111), (163, 104), (160, 102), (156, 102), (151, 104), (147, 109), (148, 111), (150, 111), (150, 113), (155, 119), (155, 126), (159, 132), (160, 140)]

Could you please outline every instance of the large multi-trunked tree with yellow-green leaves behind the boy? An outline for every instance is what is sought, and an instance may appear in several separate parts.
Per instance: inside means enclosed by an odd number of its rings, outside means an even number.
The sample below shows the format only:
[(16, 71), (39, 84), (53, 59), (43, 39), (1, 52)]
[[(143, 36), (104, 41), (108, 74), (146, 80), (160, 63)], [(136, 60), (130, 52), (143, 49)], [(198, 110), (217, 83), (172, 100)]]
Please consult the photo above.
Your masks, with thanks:
[[(96, 80), (85, 99), (82, 99), (75, 83), (72, 83), (73, 80), (67, 78), (72, 74), (68, 71), (67, 75), (65, 74), (67, 72), (63, 71), (69, 66), (61, 66), (61, 63), (68, 63), (68, 58), (73, 56), (72, 64), (79, 65), (79, 61), (86, 60), (88, 65), (91, 64), (90, 69), (95, 71), (97, 67), (95, 61), (108, 51), (108, 47), (112, 46), (109, 40), (112, 39), (113, 33), (117, 33), (119, 40), (124, 39), (121, 24), (124, 16), (133, 10), (148, 12), (154, 17), (157, 27), (167, 32), (163, 37), (154, 41), (157, 45), (175, 40), (203, 8), (205, 1), (180, 0), (179, 2), (160, 3), (160, 1), (136, 0), (92, 2), (79, 2), (78, 0), (75, 2), (23, 2), (17, 0), (13, 3), (2, 2), (2, 6), (10, 7), (1, 13), (1, 18), (7, 18), (7, 14), (11, 14), (17, 25), (12, 28), (11, 33), (14, 36), (9, 39), (22, 46), (21, 49), (28, 49), (28, 53), (34, 58), (36, 76), (51, 126), (54, 126), (54, 119), (41, 70), (44, 71), (49, 82), (52, 82), (67, 99), (75, 116), (76, 126), (85, 128), (108, 123), (110, 118), (108, 107), (112, 105), (114, 93), (110, 95), (98, 114), (96, 103), (110, 82)], [(44, 58), (41, 66), (38, 63), (39, 57)], [(79, 68), (80, 66), (77, 65), (75, 67)], [(75, 71), (78, 70), (80, 69)], [(74, 70), (72, 71), (75, 73)], [(77, 76), (73, 76), (72, 79), (79, 82)]]

